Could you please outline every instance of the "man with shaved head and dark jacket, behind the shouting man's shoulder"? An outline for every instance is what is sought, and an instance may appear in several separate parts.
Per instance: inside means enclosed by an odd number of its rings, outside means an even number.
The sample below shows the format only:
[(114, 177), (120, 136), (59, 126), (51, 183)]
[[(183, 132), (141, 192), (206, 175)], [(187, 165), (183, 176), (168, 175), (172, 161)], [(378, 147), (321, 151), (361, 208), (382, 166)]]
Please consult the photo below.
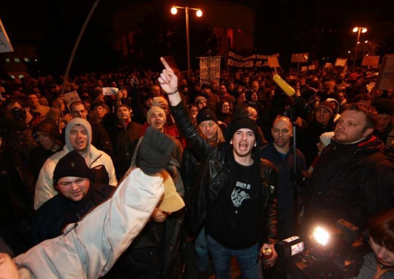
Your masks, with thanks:
[[(261, 156), (273, 162), (279, 170), (278, 190), (278, 238), (285, 239), (296, 234), (294, 218), (294, 182), (292, 172), (293, 159), (293, 124), (288, 117), (280, 116), (275, 119), (272, 129), (273, 142), (264, 145)], [(305, 158), (297, 149), (297, 169), (299, 173), (306, 170)]]

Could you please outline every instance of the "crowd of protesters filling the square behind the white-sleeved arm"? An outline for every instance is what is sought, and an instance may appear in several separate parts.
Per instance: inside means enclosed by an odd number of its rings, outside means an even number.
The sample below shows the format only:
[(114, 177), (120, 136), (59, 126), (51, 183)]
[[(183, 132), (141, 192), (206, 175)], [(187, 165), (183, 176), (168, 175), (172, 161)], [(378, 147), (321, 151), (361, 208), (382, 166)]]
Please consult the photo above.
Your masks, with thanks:
[[(165, 61), (164, 66), (162, 73), (69, 78), (64, 93), (76, 91), (80, 98), (69, 104), (61, 94), (62, 77), (0, 80), (0, 236), (15, 255), (66, 233), (67, 224), (78, 223), (117, 192), (129, 168), (146, 167), (147, 155), (139, 150), (148, 127), (173, 142), (171, 159), (161, 167), (186, 209), (156, 207), (107, 278), (179, 278), (185, 266), (206, 278), (210, 258), (217, 278), (228, 278), (230, 257), (224, 254), (230, 251), (244, 278), (257, 278), (258, 261), (253, 258), (251, 266), (237, 252), (274, 251), (276, 241), (300, 233), (300, 227), (306, 231), (316, 220), (344, 218), (366, 230), (368, 218), (394, 206), (393, 167), (383, 155), (394, 145), (394, 92), (376, 89), (376, 70), (282, 71), (296, 92), (288, 96), (268, 68), (232, 68), (221, 72), (220, 81), (200, 84), (198, 71), (176, 77)], [(119, 91), (103, 96), (103, 87)], [(349, 130), (353, 126), (360, 131)], [(381, 156), (372, 159), (375, 153)], [(261, 169), (248, 168), (260, 167), (260, 158)], [(361, 183), (358, 169), (368, 174)], [(264, 191), (257, 190), (256, 177)], [(235, 182), (249, 186), (227, 187)], [(394, 239), (394, 226), (388, 233)], [(193, 266), (186, 260), (185, 236), (195, 238)], [(372, 243), (385, 247), (391, 261), (378, 256), (378, 271), (394, 265), (394, 240), (387, 246), (379, 237), (371, 236)], [(274, 254), (265, 268), (275, 267)], [(278, 270), (268, 276), (285, 276)]]

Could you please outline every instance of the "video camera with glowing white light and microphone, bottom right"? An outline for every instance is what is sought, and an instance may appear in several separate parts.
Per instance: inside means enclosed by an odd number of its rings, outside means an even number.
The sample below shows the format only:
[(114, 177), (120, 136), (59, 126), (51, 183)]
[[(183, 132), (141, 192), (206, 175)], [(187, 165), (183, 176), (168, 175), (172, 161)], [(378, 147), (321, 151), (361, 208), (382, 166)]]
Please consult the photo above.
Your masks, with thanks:
[(369, 245), (359, 228), (344, 219), (335, 226), (317, 226), (311, 236), (293, 236), (275, 244), (294, 279), (343, 279), (358, 275)]

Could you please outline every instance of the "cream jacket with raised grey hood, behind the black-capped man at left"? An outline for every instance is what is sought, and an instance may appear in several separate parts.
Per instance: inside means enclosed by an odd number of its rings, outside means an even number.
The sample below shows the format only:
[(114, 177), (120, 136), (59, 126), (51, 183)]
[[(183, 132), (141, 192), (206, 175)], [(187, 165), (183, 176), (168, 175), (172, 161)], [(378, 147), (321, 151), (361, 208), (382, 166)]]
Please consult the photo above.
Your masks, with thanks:
[(118, 181), (115, 176), (115, 168), (111, 157), (105, 152), (98, 150), (91, 144), (92, 142), (92, 127), (90, 123), (82, 118), (74, 118), (67, 123), (66, 126), (66, 145), (63, 150), (53, 154), (49, 157), (44, 166), (42, 166), (35, 185), (34, 194), (34, 209), (37, 210), (44, 202), (58, 192), (53, 185), (53, 171), (59, 160), (68, 152), (74, 150), (69, 140), (70, 130), (75, 125), (82, 125), (88, 136), (88, 146), (81, 155), (85, 158), (86, 165), (92, 170), (92, 181), (95, 183), (110, 184), (117, 186)]

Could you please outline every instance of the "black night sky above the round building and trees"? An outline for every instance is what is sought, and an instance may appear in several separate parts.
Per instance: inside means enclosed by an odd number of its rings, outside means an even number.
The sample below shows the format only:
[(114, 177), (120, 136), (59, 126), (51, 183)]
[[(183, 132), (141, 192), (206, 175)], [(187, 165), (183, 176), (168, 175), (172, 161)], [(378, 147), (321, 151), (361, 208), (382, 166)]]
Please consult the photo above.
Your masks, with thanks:
[[(3, 0), (0, 1), (0, 18), (12, 41), (30, 41), (42, 36), (42, 32), (48, 19), (45, 14), (51, 9), (55, 1), (52, 0)], [(65, 21), (77, 16), (87, 15), (93, 0), (59, 0), (56, 1), (60, 12), (54, 11)], [(91, 24), (112, 25), (111, 13), (127, 6), (131, 3), (146, 2), (138, 0), (101, 0), (92, 18)], [(155, 1), (152, 1), (154, 4)], [(182, 1), (184, 3), (185, 1)], [(301, 17), (308, 17), (311, 14), (318, 14), (323, 20), (341, 23), (344, 29), (351, 29), (354, 25), (366, 26), (372, 30), (379, 24), (386, 21), (393, 21), (394, 1), (354, 1), (354, 0), (232, 0), (251, 7), (256, 12), (256, 17), (269, 17), (274, 21), (280, 18), (281, 14), (288, 14), (292, 21), (291, 12), (295, 6), (303, 7)], [(257, 26), (257, 28), (270, 28), (269, 26)], [(286, 32), (287, 30), (282, 30)]]

